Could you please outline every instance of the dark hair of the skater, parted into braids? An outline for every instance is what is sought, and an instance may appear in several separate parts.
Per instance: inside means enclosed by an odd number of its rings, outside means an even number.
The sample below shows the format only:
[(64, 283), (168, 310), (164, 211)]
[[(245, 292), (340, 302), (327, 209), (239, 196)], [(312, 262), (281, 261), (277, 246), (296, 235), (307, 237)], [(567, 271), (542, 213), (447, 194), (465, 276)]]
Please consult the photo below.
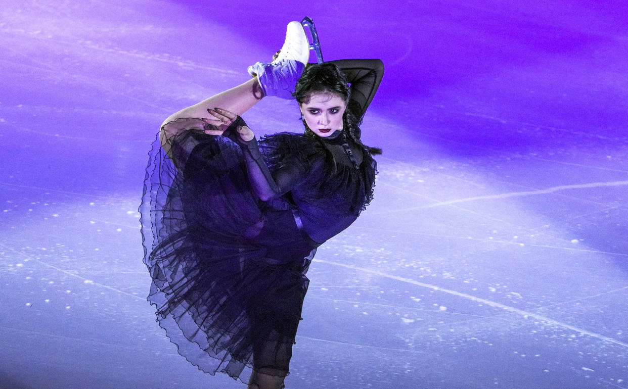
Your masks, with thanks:
[[(296, 83), (296, 90), (293, 95), (299, 104), (303, 104), (310, 100), (312, 93), (317, 92), (327, 92), (338, 95), (345, 100), (345, 104), (349, 104), (349, 99), (351, 97), (351, 89), (349, 88), (349, 83), (347, 82), (347, 76), (337, 65), (335, 65), (335, 63), (330, 62), (310, 63), (305, 68), (305, 71), (303, 72), (303, 75), (301, 75), (301, 78), (299, 78), (299, 81)], [(362, 136), (360, 124), (362, 124), (362, 120), (355, 117), (353, 112), (351, 112), (347, 106), (347, 109), (345, 109), (345, 113), (342, 116), (342, 126), (345, 130), (345, 134), (347, 134), (347, 137), (372, 155), (382, 154), (382, 149), (379, 149), (378, 147), (369, 147), (362, 143), (360, 140), (360, 136)], [(314, 134), (314, 132), (308, 127), (305, 119), (303, 119), (303, 125), (305, 125), (305, 134), (307, 136), (313, 136), (317, 138), (318, 141), (322, 142), (322, 139)]]

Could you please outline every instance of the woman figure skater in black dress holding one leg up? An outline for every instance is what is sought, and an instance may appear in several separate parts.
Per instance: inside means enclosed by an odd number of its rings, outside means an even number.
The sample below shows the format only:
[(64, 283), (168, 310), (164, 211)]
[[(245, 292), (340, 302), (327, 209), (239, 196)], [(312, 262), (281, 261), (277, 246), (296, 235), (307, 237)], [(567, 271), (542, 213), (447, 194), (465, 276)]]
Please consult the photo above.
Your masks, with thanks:
[[(254, 78), (168, 117), (144, 181), (148, 300), (160, 326), (200, 370), (249, 375), (249, 388), (283, 387), (305, 272), (371, 201), (371, 155), (381, 153), (359, 129), (381, 61), (303, 71), (308, 53), (292, 22), (278, 57), (249, 67)], [(265, 96), (296, 98), (305, 133), (257, 142), (239, 115)]]

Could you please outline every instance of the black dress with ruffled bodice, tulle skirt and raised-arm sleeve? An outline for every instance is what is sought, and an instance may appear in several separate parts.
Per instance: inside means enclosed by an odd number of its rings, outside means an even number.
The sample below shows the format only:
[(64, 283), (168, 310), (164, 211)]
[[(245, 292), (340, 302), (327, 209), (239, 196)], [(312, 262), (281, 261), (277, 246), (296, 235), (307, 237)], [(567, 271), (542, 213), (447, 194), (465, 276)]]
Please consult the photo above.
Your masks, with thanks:
[[(352, 83), (349, 109), (362, 117), (381, 61), (337, 63)], [(261, 201), (241, 148), (198, 131), (202, 125), (194, 118), (166, 124), (176, 129), (168, 155), (159, 138), (149, 154), (139, 208), (153, 279), (148, 301), (178, 352), (200, 370), (242, 381), (252, 367), (285, 376), (308, 265), (316, 247), (369, 203), (376, 163), (344, 132), (266, 136), (259, 150), (285, 193)]]

